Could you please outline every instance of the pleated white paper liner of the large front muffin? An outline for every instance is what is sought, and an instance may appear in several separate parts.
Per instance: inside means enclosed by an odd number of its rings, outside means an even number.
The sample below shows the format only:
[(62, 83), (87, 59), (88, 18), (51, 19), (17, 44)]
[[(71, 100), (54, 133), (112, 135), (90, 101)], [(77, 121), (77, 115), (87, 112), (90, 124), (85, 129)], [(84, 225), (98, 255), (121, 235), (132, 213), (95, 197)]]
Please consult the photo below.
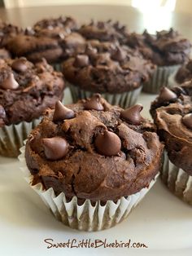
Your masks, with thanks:
[(140, 192), (131, 196), (121, 197), (116, 202), (107, 201), (105, 205), (101, 205), (98, 201), (93, 206), (90, 200), (86, 200), (83, 205), (78, 205), (76, 196), (71, 201), (67, 201), (63, 192), (55, 196), (53, 188), (45, 191), (41, 183), (32, 186), (33, 176), (26, 166), (24, 151), (25, 147), (20, 148), (20, 169), (24, 172), (28, 184), (41, 196), (42, 201), (55, 215), (55, 218), (68, 227), (83, 231), (99, 231), (120, 223), (149, 192), (159, 176), (159, 174), (155, 176), (148, 188), (142, 188)]

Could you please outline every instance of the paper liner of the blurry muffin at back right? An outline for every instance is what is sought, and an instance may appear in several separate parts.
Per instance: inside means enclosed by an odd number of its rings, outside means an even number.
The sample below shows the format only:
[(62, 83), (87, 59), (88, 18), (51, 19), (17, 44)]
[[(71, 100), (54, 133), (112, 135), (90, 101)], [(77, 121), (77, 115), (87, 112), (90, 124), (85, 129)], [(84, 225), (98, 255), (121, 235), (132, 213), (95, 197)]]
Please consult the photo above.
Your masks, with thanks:
[(168, 77), (180, 68), (181, 65), (157, 67), (149, 82), (144, 83), (143, 91), (158, 94), (162, 86), (168, 86)]

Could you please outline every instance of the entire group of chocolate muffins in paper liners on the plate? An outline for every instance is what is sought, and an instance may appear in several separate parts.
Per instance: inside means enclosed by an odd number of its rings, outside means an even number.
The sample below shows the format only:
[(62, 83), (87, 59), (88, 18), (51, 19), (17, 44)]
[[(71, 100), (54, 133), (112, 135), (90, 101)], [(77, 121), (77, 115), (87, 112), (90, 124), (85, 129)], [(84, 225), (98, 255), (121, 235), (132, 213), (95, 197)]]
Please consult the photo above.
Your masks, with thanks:
[[(192, 83), (179, 85), (192, 77), (189, 40), (63, 16), (0, 30), (0, 154), (17, 157), (28, 138), (22, 169), (56, 218), (86, 231), (112, 227), (159, 172), (192, 204)], [(155, 124), (136, 104), (142, 88), (159, 93)]]

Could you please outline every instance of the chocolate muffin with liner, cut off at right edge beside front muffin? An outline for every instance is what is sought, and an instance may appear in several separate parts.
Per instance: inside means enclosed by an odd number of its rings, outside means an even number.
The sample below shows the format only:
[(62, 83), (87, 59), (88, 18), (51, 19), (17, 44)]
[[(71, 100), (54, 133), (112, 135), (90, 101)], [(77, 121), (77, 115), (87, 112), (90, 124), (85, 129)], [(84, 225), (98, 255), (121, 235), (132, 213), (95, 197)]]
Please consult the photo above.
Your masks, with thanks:
[(161, 178), (183, 201), (192, 205), (192, 82), (171, 90), (163, 87), (151, 104), (159, 137), (165, 143)]

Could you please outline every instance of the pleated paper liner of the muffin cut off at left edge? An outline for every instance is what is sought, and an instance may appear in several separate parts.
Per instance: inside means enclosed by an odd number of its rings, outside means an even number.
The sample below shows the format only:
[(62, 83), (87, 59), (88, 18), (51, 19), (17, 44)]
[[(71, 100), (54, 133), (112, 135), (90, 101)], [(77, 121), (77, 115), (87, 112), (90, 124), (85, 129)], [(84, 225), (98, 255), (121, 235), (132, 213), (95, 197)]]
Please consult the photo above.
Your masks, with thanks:
[(36, 127), (41, 119), (21, 121), (18, 125), (3, 126), (0, 128), (0, 155), (4, 157), (18, 157), (20, 148), (24, 145), (31, 130)]

